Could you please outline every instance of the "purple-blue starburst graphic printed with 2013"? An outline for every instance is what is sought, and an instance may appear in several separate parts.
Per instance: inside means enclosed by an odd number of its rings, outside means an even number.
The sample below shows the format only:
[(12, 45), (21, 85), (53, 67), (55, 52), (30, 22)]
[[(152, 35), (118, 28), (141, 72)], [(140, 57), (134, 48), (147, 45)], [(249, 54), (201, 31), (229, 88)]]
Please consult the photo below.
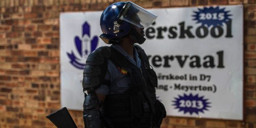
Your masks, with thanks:
[(208, 111), (208, 108), (210, 108), (210, 102), (208, 102), (208, 99), (205, 99), (204, 96), (199, 97), (198, 94), (192, 95), (190, 93), (189, 95), (186, 95), (185, 93), (183, 96), (178, 95), (178, 98), (174, 98), (172, 102), (173, 106), (175, 106), (175, 109), (179, 109), (180, 111), (183, 111), (184, 114), (189, 113), (192, 115), (193, 113), (196, 113), (197, 115), (199, 112), (204, 113), (204, 111)]

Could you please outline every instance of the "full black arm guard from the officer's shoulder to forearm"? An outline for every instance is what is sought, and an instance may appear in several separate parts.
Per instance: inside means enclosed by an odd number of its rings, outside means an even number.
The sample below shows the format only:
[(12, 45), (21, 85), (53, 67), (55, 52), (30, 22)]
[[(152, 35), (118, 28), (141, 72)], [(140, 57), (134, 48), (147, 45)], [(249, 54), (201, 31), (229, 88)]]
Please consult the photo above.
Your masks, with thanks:
[(101, 102), (98, 99), (94, 89), (99, 87), (106, 74), (107, 61), (111, 55), (111, 50), (106, 47), (100, 47), (93, 51), (87, 58), (82, 80), (85, 101), (83, 104), (83, 119), (85, 128), (104, 128), (102, 115), (100, 112)]

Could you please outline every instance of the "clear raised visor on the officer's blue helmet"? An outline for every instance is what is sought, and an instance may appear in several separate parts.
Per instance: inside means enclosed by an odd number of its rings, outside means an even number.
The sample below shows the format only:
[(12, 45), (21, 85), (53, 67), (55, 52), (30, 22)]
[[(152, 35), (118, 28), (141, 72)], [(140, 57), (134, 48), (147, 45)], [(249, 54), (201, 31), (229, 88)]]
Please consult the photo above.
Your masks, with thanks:
[(153, 24), (157, 15), (129, 1), (126, 2), (117, 17), (140, 28), (145, 28)]

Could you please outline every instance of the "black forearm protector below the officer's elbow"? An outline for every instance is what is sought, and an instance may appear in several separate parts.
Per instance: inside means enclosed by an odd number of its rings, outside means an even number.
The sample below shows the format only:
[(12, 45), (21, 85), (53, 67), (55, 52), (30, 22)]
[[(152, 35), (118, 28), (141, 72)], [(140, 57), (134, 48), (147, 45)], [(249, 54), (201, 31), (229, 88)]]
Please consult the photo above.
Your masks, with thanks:
[(88, 91), (83, 104), (83, 119), (85, 128), (104, 128), (100, 112), (100, 100), (95, 91)]

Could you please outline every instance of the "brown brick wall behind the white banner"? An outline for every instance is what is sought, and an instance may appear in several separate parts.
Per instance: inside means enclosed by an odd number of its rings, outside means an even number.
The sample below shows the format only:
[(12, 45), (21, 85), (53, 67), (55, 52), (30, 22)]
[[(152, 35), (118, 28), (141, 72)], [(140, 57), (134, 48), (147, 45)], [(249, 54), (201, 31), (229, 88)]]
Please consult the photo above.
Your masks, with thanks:
[[(167, 117), (162, 128), (256, 128), (256, 0), (131, 0), (145, 8), (244, 4), (244, 121)], [(59, 13), (117, 0), (0, 0), (0, 128), (54, 127), (60, 106)], [(81, 101), (83, 102), (83, 101)], [(70, 111), (83, 128), (82, 111)]]

